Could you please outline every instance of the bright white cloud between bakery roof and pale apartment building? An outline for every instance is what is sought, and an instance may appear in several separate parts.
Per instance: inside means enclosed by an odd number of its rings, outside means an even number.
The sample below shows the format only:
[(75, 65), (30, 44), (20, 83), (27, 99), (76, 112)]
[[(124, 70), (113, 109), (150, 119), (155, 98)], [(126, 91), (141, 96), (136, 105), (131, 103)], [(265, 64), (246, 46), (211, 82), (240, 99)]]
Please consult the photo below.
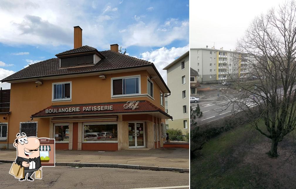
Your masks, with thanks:
[(140, 56), (136, 58), (153, 62), (158, 72), (163, 77), (163, 80), (165, 80), (166, 83), (166, 70), (163, 70), (163, 68), (166, 67), (168, 64), (172, 63), (175, 59), (177, 59), (179, 56), (183, 55), (187, 51), (189, 51), (189, 44), (184, 47), (172, 47), (170, 49), (167, 49), (166, 47), (161, 47), (154, 51), (147, 51), (141, 53)]

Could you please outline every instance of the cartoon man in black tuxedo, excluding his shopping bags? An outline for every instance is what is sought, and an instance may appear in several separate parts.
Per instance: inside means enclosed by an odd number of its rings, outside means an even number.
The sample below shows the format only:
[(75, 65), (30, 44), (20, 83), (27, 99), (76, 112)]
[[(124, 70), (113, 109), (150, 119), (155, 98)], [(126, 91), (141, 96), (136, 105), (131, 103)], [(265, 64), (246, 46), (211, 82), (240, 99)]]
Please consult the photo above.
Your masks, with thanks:
[(17, 133), (16, 137), (15, 143), (13, 143), (13, 146), (17, 148), (17, 159), (15, 159), (15, 162), (22, 165), (25, 169), (25, 177), (19, 179), (19, 181), (25, 180), (27, 173), (27, 180), (33, 181), (34, 179), (31, 178), (32, 174), (41, 169), (40, 142), (37, 137), (27, 137), (25, 133)]

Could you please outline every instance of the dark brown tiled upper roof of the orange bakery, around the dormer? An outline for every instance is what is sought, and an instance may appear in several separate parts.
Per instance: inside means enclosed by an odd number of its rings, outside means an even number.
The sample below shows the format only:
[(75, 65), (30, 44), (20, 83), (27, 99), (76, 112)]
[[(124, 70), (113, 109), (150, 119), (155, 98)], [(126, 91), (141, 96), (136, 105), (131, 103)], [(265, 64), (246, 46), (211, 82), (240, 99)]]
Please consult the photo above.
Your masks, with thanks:
[[(77, 50), (77, 49), (74, 49), (74, 50)], [(70, 51), (74, 51), (74, 50), (70, 50)], [(1, 82), (20, 80), (20, 79), (30, 79), (30, 78), (42, 78), (42, 77), (50, 77), (50, 76), (58, 76), (58, 75), (117, 70), (117, 69), (143, 67), (143, 66), (152, 66), (154, 67), (157, 74), (159, 74), (154, 64), (151, 62), (137, 59), (137, 58), (127, 56), (118, 52), (110, 51), (110, 50), (100, 51), (100, 53), (104, 56), (104, 58), (95, 65), (60, 68), (59, 58), (52, 58), (52, 59), (38, 62), (36, 64), (32, 64), (29, 67), (26, 67), (2, 79)]]

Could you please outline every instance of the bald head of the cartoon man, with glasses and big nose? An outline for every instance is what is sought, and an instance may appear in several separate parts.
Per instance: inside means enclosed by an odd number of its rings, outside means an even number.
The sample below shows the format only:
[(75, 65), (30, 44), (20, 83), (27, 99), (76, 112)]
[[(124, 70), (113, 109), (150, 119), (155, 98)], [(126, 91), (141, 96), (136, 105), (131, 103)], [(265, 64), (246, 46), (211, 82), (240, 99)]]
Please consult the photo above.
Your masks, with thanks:
[(25, 133), (17, 133), (13, 146), (17, 148), (17, 156), (22, 158), (37, 158), (40, 156), (40, 142), (37, 137), (27, 137)]

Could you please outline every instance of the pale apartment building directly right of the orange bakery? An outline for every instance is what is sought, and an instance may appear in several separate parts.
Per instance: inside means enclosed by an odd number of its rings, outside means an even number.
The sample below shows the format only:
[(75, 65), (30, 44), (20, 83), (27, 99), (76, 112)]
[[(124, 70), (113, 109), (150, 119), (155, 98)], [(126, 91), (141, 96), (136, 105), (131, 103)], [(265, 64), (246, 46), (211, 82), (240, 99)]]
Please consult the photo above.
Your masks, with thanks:
[(185, 134), (189, 131), (189, 51), (174, 62), (163, 68), (167, 70), (168, 86), (171, 94), (168, 96), (168, 112), (173, 121), (168, 120), (169, 128), (178, 128)]

